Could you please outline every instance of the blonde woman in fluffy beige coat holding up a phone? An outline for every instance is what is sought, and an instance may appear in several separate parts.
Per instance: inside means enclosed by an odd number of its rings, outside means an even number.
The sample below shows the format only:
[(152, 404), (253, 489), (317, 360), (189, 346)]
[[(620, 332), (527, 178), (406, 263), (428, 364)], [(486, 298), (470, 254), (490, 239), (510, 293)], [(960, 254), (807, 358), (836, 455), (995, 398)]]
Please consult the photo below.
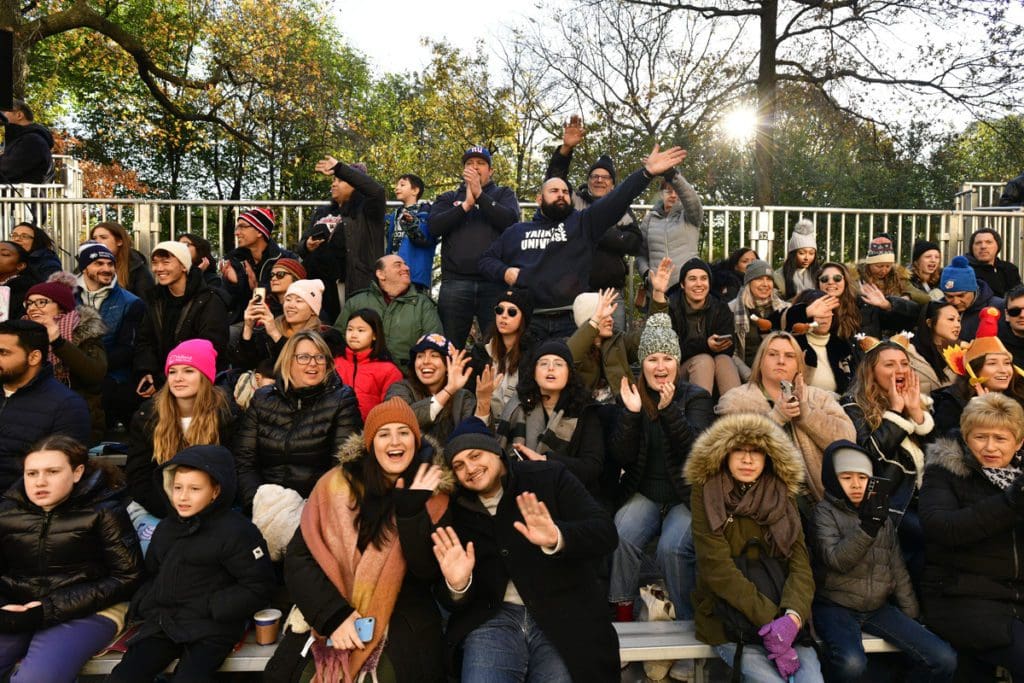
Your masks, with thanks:
[[(821, 454), (833, 441), (855, 439), (857, 431), (831, 392), (805, 383), (806, 373), (796, 338), (772, 332), (758, 348), (751, 381), (722, 396), (717, 411), (767, 415), (784, 429), (804, 461), (807, 493), (817, 503), (824, 496)], [(783, 382), (790, 391), (783, 390)]]

